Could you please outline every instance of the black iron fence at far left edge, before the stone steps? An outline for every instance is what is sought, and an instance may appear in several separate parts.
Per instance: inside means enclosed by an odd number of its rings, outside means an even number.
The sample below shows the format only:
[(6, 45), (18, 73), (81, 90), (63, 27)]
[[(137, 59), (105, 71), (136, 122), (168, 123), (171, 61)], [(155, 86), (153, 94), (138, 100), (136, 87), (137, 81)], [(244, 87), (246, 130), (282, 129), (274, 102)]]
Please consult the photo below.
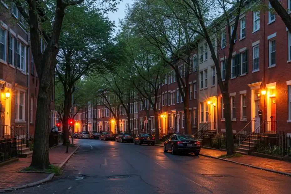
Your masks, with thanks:
[(17, 139), (4, 138), (0, 139), (0, 162), (10, 160), (17, 156)]

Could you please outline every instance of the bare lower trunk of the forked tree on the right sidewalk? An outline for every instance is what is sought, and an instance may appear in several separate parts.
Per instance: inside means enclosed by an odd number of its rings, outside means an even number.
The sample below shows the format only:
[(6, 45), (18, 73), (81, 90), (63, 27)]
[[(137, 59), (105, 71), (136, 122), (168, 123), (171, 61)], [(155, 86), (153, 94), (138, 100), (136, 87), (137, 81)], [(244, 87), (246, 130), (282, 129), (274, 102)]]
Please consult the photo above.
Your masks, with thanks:
[(227, 142), (227, 155), (234, 153), (233, 145), (233, 132), (231, 123), (231, 109), (230, 109), (230, 98), (228, 92), (222, 94), (224, 103), (224, 118), (225, 118), (225, 131), (226, 131), (226, 142)]

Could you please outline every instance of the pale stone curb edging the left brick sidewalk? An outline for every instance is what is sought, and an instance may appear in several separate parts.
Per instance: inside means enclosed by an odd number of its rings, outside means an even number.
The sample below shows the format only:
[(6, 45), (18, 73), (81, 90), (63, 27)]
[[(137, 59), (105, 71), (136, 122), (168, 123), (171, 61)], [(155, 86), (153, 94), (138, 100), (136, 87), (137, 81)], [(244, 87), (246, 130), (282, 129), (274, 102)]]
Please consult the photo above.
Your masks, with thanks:
[[(64, 166), (64, 164), (70, 159), (71, 156), (73, 156), (73, 154), (79, 149), (79, 147), (80, 147), (80, 145), (59, 165), (59, 168), (62, 168)], [(17, 189), (24, 189), (26, 187), (39, 185), (41, 183), (50, 181), (53, 177), (54, 177), (54, 173), (50, 173), (48, 175), (48, 177), (46, 177), (46, 178), (44, 178), (42, 180), (39, 180), (39, 181), (28, 183), (28, 184), (22, 185), (22, 186), (15, 186), (15, 187), (9, 187), (9, 188), (0, 189), (0, 193), (4, 193), (6, 191), (13, 191), (13, 190), (17, 190)]]

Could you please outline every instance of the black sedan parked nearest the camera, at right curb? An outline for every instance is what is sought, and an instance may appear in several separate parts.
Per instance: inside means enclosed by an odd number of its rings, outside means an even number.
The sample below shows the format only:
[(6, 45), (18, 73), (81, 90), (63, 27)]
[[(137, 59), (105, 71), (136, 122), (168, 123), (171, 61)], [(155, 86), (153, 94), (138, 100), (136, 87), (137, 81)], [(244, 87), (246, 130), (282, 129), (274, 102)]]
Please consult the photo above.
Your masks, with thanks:
[(174, 134), (164, 143), (164, 152), (171, 151), (176, 153), (194, 153), (198, 156), (201, 150), (200, 141), (193, 135)]

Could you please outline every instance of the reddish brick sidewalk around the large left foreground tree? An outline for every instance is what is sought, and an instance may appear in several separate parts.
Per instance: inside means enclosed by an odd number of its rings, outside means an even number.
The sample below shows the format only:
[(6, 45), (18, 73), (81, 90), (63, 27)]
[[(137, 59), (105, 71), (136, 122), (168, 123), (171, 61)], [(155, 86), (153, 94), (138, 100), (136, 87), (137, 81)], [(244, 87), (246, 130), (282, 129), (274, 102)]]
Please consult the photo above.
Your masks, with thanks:
[[(69, 147), (69, 153), (66, 152), (66, 146), (58, 145), (49, 150), (50, 163), (59, 166), (76, 147)], [(18, 172), (28, 167), (31, 163), (30, 158), (19, 158), (18, 162), (0, 167), (0, 189), (26, 185), (48, 177), (48, 173), (23, 173)]]

